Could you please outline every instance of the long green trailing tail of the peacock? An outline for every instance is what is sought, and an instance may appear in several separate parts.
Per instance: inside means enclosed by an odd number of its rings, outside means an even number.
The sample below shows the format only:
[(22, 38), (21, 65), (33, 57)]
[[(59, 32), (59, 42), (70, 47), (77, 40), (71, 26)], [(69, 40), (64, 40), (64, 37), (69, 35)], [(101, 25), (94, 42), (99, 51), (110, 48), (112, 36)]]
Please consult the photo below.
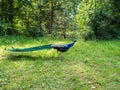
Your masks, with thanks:
[(51, 49), (51, 44), (49, 45), (43, 45), (43, 46), (37, 46), (37, 47), (30, 47), (30, 48), (12, 48), (12, 49), (6, 49), (7, 51), (11, 52), (29, 52), (29, 51), (37, 51), (37, 50), (44, 50), (44, 49)]

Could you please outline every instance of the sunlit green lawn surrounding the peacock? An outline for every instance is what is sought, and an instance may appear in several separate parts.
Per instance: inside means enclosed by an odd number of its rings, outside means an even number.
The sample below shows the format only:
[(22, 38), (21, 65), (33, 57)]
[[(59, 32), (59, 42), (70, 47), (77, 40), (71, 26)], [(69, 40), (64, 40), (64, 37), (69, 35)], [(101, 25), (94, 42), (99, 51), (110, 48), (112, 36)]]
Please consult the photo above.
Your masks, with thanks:
[(119, 90), (120, 41), (82, 41), (58, 58), (55, 50), (11, 53), (70, 40), (0, 37), (0, 90)]

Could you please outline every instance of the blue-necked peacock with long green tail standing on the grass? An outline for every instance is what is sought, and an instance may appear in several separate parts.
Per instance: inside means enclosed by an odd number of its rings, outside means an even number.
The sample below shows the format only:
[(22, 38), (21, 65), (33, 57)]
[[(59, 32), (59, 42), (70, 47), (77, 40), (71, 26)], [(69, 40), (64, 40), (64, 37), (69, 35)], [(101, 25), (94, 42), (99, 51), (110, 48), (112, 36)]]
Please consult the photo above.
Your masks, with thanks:
[(5, 50), (11, 51), (11, 52), (29, 52), (29, 51), (45, 50), (45, 49), (53, 48), (59, 52), (66, 52), (75, 44), (75, 42), (76, 40), (74, 40), (72, 43), (69, 43), (69, 44), (48, 44), (48, 45), (42, 45), (42, 46), (36, 46), (36, 47), (30, 47), (30, 48), (11, 48), (11, 49), (5, 49)]

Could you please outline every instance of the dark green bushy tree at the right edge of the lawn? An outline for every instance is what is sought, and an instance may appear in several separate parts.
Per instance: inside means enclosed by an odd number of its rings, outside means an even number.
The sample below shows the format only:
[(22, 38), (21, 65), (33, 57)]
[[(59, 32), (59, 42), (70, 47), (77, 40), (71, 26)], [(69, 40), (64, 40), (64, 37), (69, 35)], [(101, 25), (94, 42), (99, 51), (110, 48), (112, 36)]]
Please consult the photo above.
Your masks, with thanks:
[[(116, 18), (114, 7), (112, 7), (109, 2), (106, 2), (103, 5), (105, 6), (100, 7), (100, 5), (96, 5), (95, 13), (90, 21), (90, 26), (94, 32), (94, 35), (98, 39), (119, 38), (120, 28), (118, 27), (118, 23), (120, 22), (118, 16)], [(108, 10), (108, 8), (110, 9)]]

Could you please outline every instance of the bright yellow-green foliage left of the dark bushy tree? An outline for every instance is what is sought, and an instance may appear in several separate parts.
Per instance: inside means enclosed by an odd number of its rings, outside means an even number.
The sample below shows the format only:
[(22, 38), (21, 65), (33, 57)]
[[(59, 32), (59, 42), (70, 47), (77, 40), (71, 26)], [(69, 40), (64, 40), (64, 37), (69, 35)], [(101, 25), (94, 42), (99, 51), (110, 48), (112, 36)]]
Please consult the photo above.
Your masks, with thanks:
[(78, 6), (78, 13), (75, 17), (75, 20), (77, 21), (77, 24), (79, 26), (79, 36), (81, 38), (85, 38), (88, 36), (89, 33), (91, 33), (90, 27), (88, 26), (88, 23), (90, 22), (90, 16), (93, 15), (93, 7), (94, 3), (92, 0), (82, 0), (80, 5)]

